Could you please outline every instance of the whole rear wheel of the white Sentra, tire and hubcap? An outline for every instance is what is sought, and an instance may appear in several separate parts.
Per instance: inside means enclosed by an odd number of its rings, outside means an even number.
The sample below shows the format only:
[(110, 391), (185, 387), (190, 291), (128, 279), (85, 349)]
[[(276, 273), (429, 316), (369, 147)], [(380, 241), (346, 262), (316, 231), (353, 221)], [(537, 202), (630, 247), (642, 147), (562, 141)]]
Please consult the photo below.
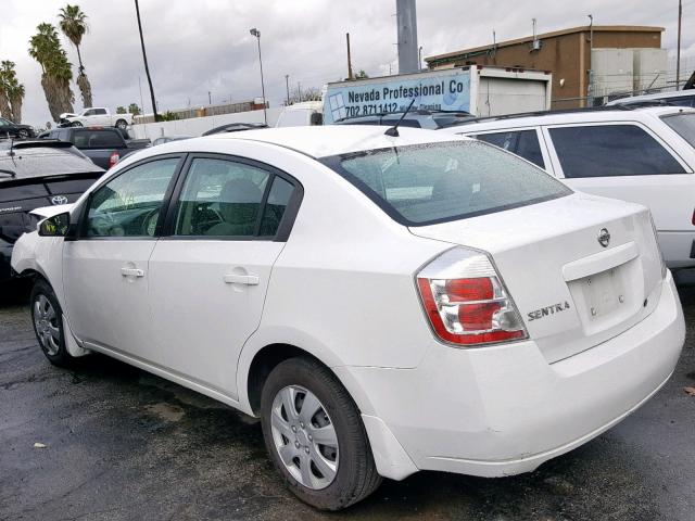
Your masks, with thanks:
[(261, 422), (273, 462), (303, 501), (340, 510), (381, 483), (355, 403), (320, 364), (279, 364), (263, 387)]

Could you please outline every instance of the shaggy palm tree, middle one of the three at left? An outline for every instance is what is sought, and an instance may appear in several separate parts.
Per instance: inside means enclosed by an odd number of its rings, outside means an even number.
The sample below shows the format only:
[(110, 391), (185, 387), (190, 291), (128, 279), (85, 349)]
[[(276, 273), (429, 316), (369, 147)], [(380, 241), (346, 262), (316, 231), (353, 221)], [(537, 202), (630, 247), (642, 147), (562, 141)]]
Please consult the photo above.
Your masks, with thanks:
[(73, 68), (58, 38), (55, 27), (43, 23), (36, 29), (36, 35), (29, 39), (29, 55), (41, 66), (41, 87), (51, 117), (58, 122), (61, 113), (75, 112), (75, 94), (70, 87)]

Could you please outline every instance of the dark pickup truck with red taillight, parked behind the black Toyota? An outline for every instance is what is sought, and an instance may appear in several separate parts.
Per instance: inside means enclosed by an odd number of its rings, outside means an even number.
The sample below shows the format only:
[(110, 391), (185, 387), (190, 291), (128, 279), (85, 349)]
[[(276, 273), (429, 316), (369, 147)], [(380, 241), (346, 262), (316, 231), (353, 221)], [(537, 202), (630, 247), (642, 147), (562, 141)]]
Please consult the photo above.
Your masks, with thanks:
[(68, 127), (54, 128), (49, 134), (51, 139), (60, 139), (74, 144), (94, 164), (104, 169), (111, 168), (123, 157), (150, 145), (150, 140), (126, 140), (123, 130), (104, 127)]

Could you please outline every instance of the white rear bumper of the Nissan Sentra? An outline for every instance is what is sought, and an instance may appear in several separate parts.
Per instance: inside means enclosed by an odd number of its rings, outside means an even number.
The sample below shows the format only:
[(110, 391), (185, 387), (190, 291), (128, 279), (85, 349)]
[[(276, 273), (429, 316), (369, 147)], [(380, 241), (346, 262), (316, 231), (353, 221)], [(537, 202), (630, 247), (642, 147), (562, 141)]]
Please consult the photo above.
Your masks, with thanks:
[(388, 430), (372, 436), (368, 427), (383, 475), (427, 469), (501, 476), (534, 470), (640, 407), (672, 373), (684, 336), (669, 274), (642, 322), (555, 364), (532, 341), (480, 350), (433, 343), (416, 369), (336, 371), (350, 372), (344, 381), (355, 382), (374, 409), (363, 412)]

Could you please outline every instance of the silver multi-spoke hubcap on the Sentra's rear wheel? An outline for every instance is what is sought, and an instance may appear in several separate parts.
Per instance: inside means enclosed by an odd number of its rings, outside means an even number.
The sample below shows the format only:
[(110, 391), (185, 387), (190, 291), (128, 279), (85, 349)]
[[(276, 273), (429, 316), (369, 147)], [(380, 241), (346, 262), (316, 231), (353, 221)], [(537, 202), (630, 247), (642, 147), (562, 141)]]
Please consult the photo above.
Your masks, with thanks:
[(275, 448), (292, 476), (312, 490), (326, 488), (338, 472), (338, 436), (318, 398), (304, 387), (281, 389), (273, 401)]

